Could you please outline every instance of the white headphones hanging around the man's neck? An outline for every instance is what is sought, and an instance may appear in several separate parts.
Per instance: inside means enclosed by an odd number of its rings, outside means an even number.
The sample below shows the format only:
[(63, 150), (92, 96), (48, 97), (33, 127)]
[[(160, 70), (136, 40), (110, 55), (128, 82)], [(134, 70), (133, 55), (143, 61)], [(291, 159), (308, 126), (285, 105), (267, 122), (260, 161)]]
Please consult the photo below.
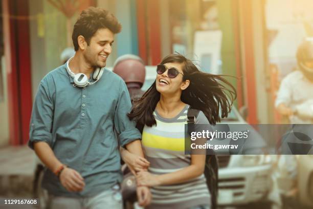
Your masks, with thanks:
[[(73, 57), (71, 57), (70, 59), (72, 59)], [(94, 83), (96, 83), (102, 76), (103, 74), (103, 70), (104, 68), (97, 68), (93, 74), (93, 79), (95, 80), (94, 82), (88, 82), (88, 77), (83, 74), (83, 73), (73, 73), (69, 67), (69, 61), (66, 61), (66, 71), (68, 71), (69, 75), (74, 78), (74, 87), (86, 87), (88, 85), (93, 85)]]

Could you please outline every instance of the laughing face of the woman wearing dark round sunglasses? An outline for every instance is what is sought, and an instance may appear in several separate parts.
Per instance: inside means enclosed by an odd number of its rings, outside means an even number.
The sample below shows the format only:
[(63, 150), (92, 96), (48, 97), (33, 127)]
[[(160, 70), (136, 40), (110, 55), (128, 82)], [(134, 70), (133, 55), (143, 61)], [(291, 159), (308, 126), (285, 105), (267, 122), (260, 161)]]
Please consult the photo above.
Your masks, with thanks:
[[(155, 85), (157, 91), (161, 94), (174, 95), (177, 93), (182, 93), (189, 86), (189, 80), (183, 81), (183, 64), (177, 62), (168, 62), (164, 64), (166, 71), (163, 74), (157, 74), (157, 79)], [(168, 69), (175, 68), (180, 73), (174, 77), (170, 78), (168, 76)]]

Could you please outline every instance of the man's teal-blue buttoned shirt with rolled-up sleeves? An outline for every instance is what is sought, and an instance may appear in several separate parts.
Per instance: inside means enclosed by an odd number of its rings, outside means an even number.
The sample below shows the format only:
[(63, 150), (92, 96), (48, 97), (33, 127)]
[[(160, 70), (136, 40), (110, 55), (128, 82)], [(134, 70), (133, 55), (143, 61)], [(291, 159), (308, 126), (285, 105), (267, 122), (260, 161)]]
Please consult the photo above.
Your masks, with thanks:
[(93, 196), (122, 179), (115, 131), (121, 146), (140, 139), (141, 134), (127, 117), (130, 97), (118, 75), (105, 69), (94, 85), (79, 88), (73, 84), (66, 65), (41, 80), (32, 111), (29, 146), (33, 148), (35, 141), (47, 142), (63, 164), (84, 178), (84, 190), (71, 193), (46, 170), (43, 187), (51, 194)]

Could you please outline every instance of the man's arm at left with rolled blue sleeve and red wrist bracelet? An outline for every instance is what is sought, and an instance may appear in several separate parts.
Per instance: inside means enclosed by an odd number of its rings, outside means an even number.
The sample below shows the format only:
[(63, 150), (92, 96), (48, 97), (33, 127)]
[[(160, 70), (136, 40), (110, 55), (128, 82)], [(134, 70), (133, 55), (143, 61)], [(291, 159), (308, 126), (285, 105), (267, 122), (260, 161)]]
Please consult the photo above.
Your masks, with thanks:
[(51, 95), (53, 88), (49, 88), (47, 77), (44, 78), (39, 85), (35, 102), (33, 105), (29, 147), (35, 150), (39, 159), (53, 173), (59, 176), (61, 184), (70, 192), (78, 192), (83, 190), (84, 182), (78, 172), (73, 169), (66, 168), (54, 155), (51, 146), (52, 139), (52, 123), (54, 101)]

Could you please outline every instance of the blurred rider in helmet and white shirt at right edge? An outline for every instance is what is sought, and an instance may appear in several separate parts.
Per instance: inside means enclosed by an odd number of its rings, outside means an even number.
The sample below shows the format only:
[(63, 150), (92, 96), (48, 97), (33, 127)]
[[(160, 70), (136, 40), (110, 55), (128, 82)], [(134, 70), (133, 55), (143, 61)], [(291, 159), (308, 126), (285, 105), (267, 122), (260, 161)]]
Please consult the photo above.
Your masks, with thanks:
[[(313, 100), (313, 39), (306, 38), (297, 50), (298, 70), (289, 73), (282, 79), (281, 85), (275, 101), (275, 107), (278, 112), (287, 117), (289, 123), (292, 124), (312, 124), (313, 117), (310, 108), (301, 106)], [(304, 106), (306, 107), (306, 106)], [(303, 114), (304, 112), (304, 114)], [(308, 134), (311, 130), (307, 130), (307, 126), (293, 126), (293, 132), (299, 130), (301, 133)], [(296, 131), (297, 132), (297, 131)], [(287, 142), (301, 143), (295, 135), (289, 134), (284, 138), (282, 144), (283, 154), (292, 154)], [(296, 205), (297, 194), (297, 159), (295, 155), (281, 155), (279, 158), (279, 169), (281, 175), (287, 178), (284, 181), (290, 182), (289, 191), (286, 191), (283, 198), (285, 204)]]

